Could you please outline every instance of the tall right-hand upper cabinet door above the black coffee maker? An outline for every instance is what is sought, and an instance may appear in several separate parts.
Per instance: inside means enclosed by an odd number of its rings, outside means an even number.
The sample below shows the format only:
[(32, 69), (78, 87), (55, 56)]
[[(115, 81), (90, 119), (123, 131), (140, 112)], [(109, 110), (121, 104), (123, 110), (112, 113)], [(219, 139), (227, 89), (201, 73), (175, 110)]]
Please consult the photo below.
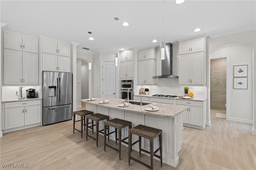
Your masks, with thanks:
[(23, 52), (22, 68), (23, 84), (38, 84), (38, 54)]

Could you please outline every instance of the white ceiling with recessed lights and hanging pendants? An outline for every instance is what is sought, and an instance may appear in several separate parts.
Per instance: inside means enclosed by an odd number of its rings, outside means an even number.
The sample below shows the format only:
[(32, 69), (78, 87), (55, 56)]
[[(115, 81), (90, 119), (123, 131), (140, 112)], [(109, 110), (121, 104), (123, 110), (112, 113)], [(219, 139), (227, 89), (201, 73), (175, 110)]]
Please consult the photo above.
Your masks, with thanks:
[[(162, 39), (162, 0), (0, 1), (6, 29), (38, 37), (80, 43), (90, 51), (158, 46)], [(122, 26), (127, 21), (128, 27)], [(201, 31), (193, 30), (200, 27)], [(200, 34), (225, 35), (256, 28), (255, 0), (164, 1), (164, 41)], [(90, 41), (88, 31), (94, 41)], [(157, 43), (152, 43), (157, 39)]]

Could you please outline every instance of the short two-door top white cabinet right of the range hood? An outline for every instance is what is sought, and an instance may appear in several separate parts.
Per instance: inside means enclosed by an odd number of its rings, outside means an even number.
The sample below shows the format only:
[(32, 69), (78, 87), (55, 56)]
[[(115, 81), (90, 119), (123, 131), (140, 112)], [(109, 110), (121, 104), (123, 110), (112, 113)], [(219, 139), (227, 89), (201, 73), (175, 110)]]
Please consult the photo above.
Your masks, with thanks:
[(204, 51), (205, 38), (200, 37), (179, 42), (179, 54), (196, 53)]

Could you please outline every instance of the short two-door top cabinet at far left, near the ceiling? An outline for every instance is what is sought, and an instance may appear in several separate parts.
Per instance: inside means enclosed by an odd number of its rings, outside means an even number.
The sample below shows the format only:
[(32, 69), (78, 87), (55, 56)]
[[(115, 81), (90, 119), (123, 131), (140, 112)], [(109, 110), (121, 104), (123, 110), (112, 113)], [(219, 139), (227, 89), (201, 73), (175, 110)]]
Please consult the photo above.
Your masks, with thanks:
[(19, 33), (4, 31), (4, 48), (38, 53), (38, 39)]

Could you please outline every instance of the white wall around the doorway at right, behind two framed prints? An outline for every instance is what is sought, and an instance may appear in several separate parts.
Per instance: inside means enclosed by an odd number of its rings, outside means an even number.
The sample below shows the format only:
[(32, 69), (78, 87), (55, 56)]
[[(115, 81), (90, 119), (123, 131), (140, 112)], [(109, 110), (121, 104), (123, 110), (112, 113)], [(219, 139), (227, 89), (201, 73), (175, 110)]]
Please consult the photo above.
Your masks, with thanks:
[[(253, 100), (255, 101), (255, 47), (256, 31), (246, 31), (233, 35), (218, 38), (208, 38), (208, 58), (229, 55), (230, 56), (230, 120), (252, 123), (253, 121)], [(254, 64), (253, 64), (254, 62)], [(234, 65), (248, 65), (248, 89), (233, 89), (233, 68)], [(209, 67), (208, 67), (209, 68)], [(209, 69), (208, 69), (209, 72)], [(209, 82), (209, 74), (207, 78)], [(232, 92), (233, 91), (233, 92)], [(253, 94), (254, 92), (254, 94)], [(210, 100), (210, 98), (208, 98)], [(209, 103), (208, 103), (209, 104)], [(255, 103), (254, 103), (255, 104)], [(208, 111), (209, 111), (208, 106)], [(254, 129), (256, 129), (254, 127)]]

